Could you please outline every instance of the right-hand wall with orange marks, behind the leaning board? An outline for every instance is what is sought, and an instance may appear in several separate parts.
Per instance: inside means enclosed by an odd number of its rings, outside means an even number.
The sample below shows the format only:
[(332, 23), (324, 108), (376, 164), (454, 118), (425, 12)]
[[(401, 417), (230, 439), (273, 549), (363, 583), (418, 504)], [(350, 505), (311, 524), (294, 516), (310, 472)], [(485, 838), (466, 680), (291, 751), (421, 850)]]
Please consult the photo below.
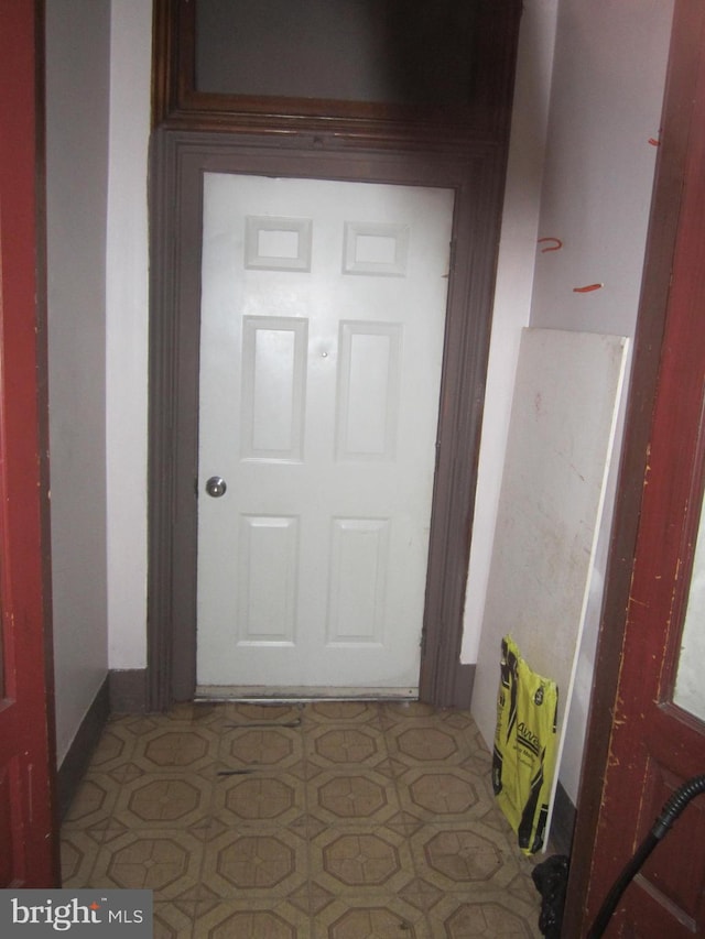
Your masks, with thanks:
[[(634, 335), (658, 151), (650, 140), (659, 137), (671, 15), (670, 0), (561, 0), (539, 237), (561, 239), (563, 248), (543, 252), (546, 244), (539, 245), (531, 326)], [(574, 292), (590, 284), (604, 286)], [(621, 429), (618, 435), (620, 439)], [(561, 766), (561, 783), (573, 801), (615, 478), (616, 469), (600, 529)]]

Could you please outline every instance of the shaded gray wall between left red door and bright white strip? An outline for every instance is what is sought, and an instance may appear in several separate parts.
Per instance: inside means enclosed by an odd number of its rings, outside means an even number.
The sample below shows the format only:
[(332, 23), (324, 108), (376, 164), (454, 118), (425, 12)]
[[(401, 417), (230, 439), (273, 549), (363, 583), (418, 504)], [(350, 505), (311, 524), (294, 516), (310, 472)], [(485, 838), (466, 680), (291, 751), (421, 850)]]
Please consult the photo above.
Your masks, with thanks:
[(108, 668), (106, 214), (110, 0), (46, 4), (46, 209), (57, 757)]

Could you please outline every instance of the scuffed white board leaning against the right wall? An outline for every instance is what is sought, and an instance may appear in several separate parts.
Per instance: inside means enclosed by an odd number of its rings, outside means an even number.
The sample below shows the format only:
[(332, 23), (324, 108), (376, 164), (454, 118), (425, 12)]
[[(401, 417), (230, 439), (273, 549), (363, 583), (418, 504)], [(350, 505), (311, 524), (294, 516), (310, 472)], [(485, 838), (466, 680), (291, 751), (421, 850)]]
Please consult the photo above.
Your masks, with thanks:
[(491, 749), (500, 642), (509, 633), (529, 666), (558, 686), (554, 793), (627, 342), (621, 336), (528, 328), (519, 352), (473, 714)]

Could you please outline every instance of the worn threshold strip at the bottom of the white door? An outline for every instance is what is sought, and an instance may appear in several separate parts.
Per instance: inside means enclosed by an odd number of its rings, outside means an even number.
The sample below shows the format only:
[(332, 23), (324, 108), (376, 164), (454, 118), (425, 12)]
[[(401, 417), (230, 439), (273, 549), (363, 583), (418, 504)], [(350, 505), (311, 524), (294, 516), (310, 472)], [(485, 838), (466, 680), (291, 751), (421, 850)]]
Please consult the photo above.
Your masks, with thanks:
[(329, 688), (325, 686), (272, 688), (268, 685), (197, 685), (194, 700), (272, 705), (280, 701), (416, 701), (419, 688)]

